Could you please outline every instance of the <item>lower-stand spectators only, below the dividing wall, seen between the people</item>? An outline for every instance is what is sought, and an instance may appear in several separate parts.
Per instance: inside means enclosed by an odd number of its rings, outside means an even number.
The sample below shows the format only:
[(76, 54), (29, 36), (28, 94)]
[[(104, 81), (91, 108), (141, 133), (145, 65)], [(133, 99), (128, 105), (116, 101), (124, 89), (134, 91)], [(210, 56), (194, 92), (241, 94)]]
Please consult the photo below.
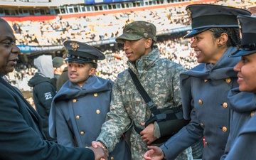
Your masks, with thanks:
[[(173, 60), (176, 63), (183, 65), (187, 69), (191, 69), (197, 65), (196, 57), (193, 55), (193, 50), (190, 47), (191, 39), (183, 40), (182, 37), (174, 38), (167, 41), (159, 41), (158, 46), (161, 57)], [(108, 48), (104, 51), (105, 60), (98, 61), (96, 75), (109, 80), (115, 80), (117, 74), (127, 68), (127, 58), (124, 50), (113, 51)], [(27, 85), (28, 80), (37, 72), (36, 68), (23, 68), (19, 71), (9, 73), (9, 80), (13, 85), (16, 85), (21, 90), (31, 91), (31, 87)]]

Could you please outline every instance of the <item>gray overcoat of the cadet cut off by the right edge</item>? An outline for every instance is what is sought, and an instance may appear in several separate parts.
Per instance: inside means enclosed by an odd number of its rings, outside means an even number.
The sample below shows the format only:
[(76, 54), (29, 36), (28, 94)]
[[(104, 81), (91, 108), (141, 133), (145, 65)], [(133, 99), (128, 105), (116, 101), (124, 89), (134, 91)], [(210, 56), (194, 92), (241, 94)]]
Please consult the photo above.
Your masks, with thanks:
[(221, 157), (221, 160), (255, 159), (256, 94), (240, 92), (238, 88), (235, 88), (229, 92), (228, 100), (231, 105), (230, 134), (225, 155)]

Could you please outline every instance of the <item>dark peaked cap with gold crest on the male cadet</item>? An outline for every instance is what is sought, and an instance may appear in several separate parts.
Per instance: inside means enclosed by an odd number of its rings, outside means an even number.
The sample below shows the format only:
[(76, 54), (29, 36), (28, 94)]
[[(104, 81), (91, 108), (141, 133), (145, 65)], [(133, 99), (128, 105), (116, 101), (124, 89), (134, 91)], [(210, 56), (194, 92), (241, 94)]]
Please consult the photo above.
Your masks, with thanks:
[(65, 48), (68, 50), (65, 61), (74, 63), (97, 63), (97, 60), (104, 60), (105, 55), (96, 48), (78, 41), (65, 41)]

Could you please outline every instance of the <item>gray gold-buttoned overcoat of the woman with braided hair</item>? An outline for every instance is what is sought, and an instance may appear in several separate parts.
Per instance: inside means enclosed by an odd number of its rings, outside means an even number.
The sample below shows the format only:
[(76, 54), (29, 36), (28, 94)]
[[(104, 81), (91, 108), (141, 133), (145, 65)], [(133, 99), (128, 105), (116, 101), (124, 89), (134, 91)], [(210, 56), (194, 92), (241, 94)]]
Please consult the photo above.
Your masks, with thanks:
[(206, 139), (204, 160), (220, 159), (224, 154), (230, 131), (228, 92), (238, 87), (237, 73), (233, 67), (240, 58), (228, 58), (235, 50), (235, 47), (228, 48), (215, 65), (201, 63), (181, 73), (183, 114), (191, 122), (161, 146), (167, 159), (174, 159), (179, 152), (203, 136)]

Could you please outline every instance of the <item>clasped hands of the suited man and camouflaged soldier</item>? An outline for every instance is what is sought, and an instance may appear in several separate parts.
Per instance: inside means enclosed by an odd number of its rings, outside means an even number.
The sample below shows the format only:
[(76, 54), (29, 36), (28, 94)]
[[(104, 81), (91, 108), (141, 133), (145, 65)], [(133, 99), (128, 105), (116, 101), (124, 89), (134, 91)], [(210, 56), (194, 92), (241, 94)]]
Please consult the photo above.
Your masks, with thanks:
[(93, 141), (92, 146), (89, 147), (95, 154), (95, 160), (107, 160), (109, 154), (107, 153), (106, 147), (100, 143)]

